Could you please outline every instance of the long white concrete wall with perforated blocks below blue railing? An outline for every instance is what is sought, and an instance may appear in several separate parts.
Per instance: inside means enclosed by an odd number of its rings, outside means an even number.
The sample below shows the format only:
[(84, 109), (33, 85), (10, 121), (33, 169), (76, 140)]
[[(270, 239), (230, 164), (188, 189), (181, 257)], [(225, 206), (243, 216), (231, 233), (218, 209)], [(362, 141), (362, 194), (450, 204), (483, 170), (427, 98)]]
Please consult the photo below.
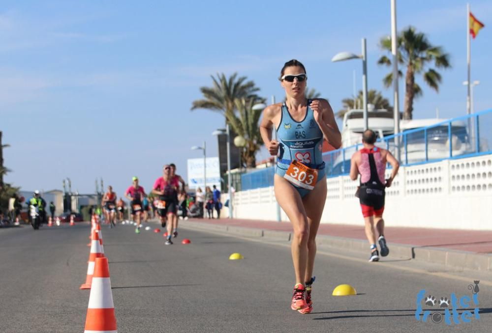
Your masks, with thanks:
[[(358, 184), (348, 176), (327, 179), (322, 223), (363, 223)], [(238, 192), (234, 203), (235, 218), (277, 220), (273, 187)], [(283, 211), (280, 217), (288, 221)], [(400, 167), (383, 217), (391, 226), (492, 230), (492, 155)]]

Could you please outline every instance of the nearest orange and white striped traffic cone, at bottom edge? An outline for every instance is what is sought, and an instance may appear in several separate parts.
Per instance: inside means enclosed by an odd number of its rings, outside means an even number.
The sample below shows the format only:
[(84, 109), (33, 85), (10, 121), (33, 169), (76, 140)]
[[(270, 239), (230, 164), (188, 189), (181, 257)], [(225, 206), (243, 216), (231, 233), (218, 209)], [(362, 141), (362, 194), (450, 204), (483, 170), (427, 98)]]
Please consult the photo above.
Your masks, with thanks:
[(118, 333), (108, 258), (95, 259), (84, 333)]

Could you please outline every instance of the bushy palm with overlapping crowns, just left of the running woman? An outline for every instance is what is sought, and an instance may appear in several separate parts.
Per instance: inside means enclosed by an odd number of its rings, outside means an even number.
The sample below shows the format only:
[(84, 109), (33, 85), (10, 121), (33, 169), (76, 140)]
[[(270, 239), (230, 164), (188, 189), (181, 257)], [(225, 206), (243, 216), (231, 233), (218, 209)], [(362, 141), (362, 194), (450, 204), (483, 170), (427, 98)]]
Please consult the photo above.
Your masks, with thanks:
[(212, 87), (201, 87), (204, 99), (195, 100), (191, 110), (208, 109), (220, 112), (233, 132), (246, 139), (243, 158), (247, 167), (256, 167), (255, 154), (263, 141), (259, 135), (258, 120), (261, 110), (253, 111), (252, 106), (264, 103), (265, 99), (256, 95), (260, 88), (246, 77), (237, 77), (234, 73), (229, 78), (224, 74), (212, 76)]

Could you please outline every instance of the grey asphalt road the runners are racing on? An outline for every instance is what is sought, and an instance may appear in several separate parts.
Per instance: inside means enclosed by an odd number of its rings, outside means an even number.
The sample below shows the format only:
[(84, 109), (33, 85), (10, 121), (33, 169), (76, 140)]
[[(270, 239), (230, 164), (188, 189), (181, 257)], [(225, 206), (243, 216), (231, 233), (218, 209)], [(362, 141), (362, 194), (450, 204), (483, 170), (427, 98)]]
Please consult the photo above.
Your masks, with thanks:
[[(154, 228), (154, 224), (152, 225)], [(89, 224), (0, 229), (0, 332), (84, 332)], [(180, 229), (175, 245), (162, 232), (103, 227), (118, 332), (490, 332), (492, 278), (446, 272), (388, 257), (368, 263), (343, 249), (319, 248), (313, 313), (290, 309), (294, 274), (288, 243)], [(182, 245), (184, 238), (190, 245)], [(240, 252), (244, 260), (228, 260)], [(471, 296), (479, 286), (480, 319), (427, 323), (415, 318), (416, 297)], [(356, 296), (335, 297), (353, 285)], [(443, 312), (437, 306), (424, 310)], [(475, 305), (468, 308), (473, 312)], [(461, 308), (461, 306), (459, 306)], [(461, 313), (462, 310), (458, 310)]]

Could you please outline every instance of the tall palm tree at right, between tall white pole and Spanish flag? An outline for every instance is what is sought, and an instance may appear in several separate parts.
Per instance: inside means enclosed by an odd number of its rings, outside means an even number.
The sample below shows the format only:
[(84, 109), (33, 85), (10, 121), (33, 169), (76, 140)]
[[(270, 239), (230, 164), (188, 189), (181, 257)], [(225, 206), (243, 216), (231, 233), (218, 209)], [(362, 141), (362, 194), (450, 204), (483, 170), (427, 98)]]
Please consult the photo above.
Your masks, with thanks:
[[(417, 32), (414, 27), (400, 32), (397, 46), (398, 63), (406, 66), (403, 119), (412, 119), (413, 99), (422, 96), (422, 88), (415, 82), (415, 74), (423, 73), (424, 82), (439, 92), (441, 75), (427, 66), (433, 62), (436, 68), (450, 68), (449, 54), (444, 53), (442, 47), (433, 46), (427, 36), (423, 32)], [(391, 38), (381, 38), (380, 47), (391, 53)], [(381, 56), (377, 63), (391, 66), (391, 60), (385, 55)], [(401, 77), (402, 72), (398, 75)], [(383, 83), (389, 87), (393, 83), (393, 73), (386, 75)]]

